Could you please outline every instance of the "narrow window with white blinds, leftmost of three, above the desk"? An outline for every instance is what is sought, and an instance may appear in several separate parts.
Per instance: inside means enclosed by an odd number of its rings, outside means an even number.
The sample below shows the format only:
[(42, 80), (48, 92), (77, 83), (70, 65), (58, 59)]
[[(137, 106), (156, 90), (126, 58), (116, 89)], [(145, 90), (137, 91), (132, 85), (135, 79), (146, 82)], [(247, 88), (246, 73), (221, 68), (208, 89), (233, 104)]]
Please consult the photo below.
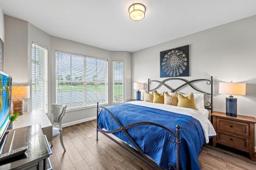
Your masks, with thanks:
[(48, 50), (32, 43), (32, 110), (48, 112)]

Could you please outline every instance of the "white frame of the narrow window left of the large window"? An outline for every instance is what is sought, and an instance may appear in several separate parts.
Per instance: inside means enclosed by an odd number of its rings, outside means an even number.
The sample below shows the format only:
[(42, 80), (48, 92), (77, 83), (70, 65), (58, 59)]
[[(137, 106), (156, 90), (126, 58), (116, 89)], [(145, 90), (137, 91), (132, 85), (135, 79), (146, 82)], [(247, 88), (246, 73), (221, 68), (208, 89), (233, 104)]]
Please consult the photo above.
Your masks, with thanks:
[[(42, 63), (42, 79), (36, 79), (34, 78), (34, 82), (42, 82), (42, 99), (45, 99), (42, 100), (44, 104), (46, 104), (46, 106), (42, 107), (42, 108), (37, 108), (37, 109), (33, 109), (33, 72), (32, 72), (32, 69), (33, 69), (33, 45), (37, 45), (41, 48), (44, 48), (44, 50), (46, 50), (46, 54), (44, 56), (44, 59), (42, 59), (43, 63)], [(34, 52), (35, 53), (35, 52)], [(47, 46), (44, 46), (44, 45), (41, 45), (35, 41), (32, 41), (32, 44), (31, 44), (31, 110), (44, 110), (46, 113), (48, 113), (48, 47)], [(36, 54), (35, 54), (36, 55)], [(47, 69), (47, 70), (45, 70)], [(46, 71), (46, 72), (45, 72)]]

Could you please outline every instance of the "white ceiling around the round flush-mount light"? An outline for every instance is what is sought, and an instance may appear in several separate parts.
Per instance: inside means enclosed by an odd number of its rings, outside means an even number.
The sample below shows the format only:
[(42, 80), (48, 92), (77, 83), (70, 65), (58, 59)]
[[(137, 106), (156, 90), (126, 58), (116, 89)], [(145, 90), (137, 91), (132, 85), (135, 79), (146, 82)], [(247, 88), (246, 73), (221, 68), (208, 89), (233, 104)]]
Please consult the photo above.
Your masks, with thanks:
[[(146, 7), (133, 21), (128, 8)], [(256, 14), (255, 0), (0, 0), (5, 14), (50, 35), (110, 51), (134, 52)]]

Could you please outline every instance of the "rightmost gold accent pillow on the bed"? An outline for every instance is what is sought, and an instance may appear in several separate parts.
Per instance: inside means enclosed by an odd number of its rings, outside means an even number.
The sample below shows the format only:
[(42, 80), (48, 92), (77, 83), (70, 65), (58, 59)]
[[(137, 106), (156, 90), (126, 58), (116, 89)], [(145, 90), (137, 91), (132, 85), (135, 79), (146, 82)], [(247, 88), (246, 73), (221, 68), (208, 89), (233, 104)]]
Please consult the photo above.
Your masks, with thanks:
[(178, 93), (178, 105), (179, 107), (186, 107), (197, 110), (194, 94), (189, 93), (186, 97), (181, 93)]

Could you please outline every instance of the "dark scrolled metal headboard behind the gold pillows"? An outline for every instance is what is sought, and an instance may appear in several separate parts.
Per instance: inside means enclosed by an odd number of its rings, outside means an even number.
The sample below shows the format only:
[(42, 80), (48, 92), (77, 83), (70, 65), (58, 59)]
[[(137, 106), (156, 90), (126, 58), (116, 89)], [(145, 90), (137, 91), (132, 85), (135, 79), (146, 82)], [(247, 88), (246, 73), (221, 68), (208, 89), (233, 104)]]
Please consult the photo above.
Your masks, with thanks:
[[(167, 84), (165, 83), (165, 82), (170, 81), (170, 80), (181, 80), (181, 81), (183, 81), (183, 82), (185, 82), (185, 83), (174, 89), (174, 88), (170, 87), (169, 85), (167, 85)], [(191, 83), (199, 82), (199, 81), (206, 81), (206, 84), (207, 84), (207, 85), (210, 85), (210, 93), (207, 93), (207, 92), (204, 92), (204, 91), (202, 91), (202, 90), (199, 90), (199, 89), (196, 88), (193, 84), (191, 84)], [(151, 84), (151, 82), (158, 82), (159, 85), (158, 85), (156, 88), (150, 90), (150, 84)], [(175, 92), (175, 91), (179, 91), (180, 89), (182, 89), (183, 87), (185, 87), (185, 86), (188, 85), (188, 86), (190, 86), (191, 88), (193, 88), (194, 90), (203, 93), (204, 95), (210, 95), (210, 102), (206, 102), (206, 106), (204, 106), (204, 107), (205, 107), (206, 109), (210, 109), (210, 111), (211, 111), (211, 113), (212, 113), (212, 110), (213, 110), (213, 109), (212, 109), (212, 83), (213, 83), (213, 81), (212, 81), (212, 76), (210, 77), (210, 80), (208, 80), (208, 79), (196, 79), (196, 80), (190, 80), (190, 81), (185, 80), (185, 79), (181, 79), (181, 78), (168, 78), (168, 79), (165, 79), (165, 80), (163, 80), (163, 81), (150, 80), (150, 79), (148, 79), (148, 82), (147, 82), (147, 90), (148, 90), (148, 91), (153, 91), (153, 90), (156, 90), (156, 89), (160, 88), (160, 87), (163, 85), (163, 86), (167, 87), (169, 90), (171, 90), (171, 92)]]

